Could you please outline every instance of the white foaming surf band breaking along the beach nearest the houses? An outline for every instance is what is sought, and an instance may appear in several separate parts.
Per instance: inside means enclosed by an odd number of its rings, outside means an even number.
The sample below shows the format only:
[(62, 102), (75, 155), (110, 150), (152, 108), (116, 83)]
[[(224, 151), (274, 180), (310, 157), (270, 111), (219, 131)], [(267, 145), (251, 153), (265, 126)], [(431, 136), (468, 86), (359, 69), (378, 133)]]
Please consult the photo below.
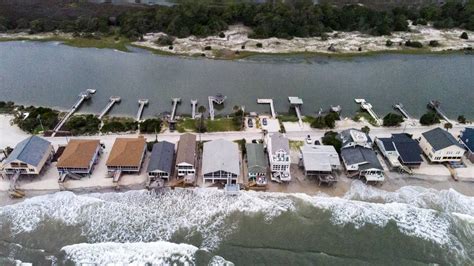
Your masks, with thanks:
[[(403, 234), (431, 241), (472, 260), (469, 243), (474, 237), (473, 197), (452, 189), (437, 191), (421, 187), (387, 192), (358, 181), (353, 182), (343, 198), (260, 192), (228, 196), (216, 189), (87, 195), (59, 192), (0, 208), (0, 222), (15, 221), (10, 228), (13, 235), (33, 231), (45, 219), (78, 225), (88, 242), (105, 242), (93, 244), (99, 250), (115, 245), (108, 242), (163, 245), (156, 241), (171, 241), (174, 234), (185, 230), (188, 234), (199, 233), (202, 236), (199, 248), (212, 251), (237, 228), (237, 222), (232, 219), (234, 213), (263, 214), (269, 222), (284, 212), (297, 212), (301, 204), (329, 212), (335, 225), (385, 227), (394, 222)], [(133, 247), (133, 244), (117, 245)], [(192, 250), (188, 246), (179, 247)], [(77, 250), (87, 248), (80, 244), (64, 250), (80, 255)], [(219, 258), (215, 260), (220, 264)]]

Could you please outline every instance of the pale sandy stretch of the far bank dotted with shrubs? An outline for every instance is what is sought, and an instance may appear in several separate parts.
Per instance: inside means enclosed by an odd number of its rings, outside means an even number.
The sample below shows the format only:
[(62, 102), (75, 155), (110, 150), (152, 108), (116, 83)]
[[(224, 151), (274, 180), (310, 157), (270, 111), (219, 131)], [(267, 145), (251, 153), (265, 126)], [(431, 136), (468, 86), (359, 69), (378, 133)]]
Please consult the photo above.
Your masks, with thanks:
[[(431, 26), (413, 26), (410, 25), (410, 32), (394, 32), (391, 36), (372, 36), (361, 32), (331, 32), (327, 40), (320, 37), (293, 38), (291, 40), (268, 38), (251, 39), (248, 34), (251, 30), (243, 25), (229, 26), (224, 32), (225, 37), (209, 36), (206, 38), (197, 38), (190, 36), (187, 38), (176, 38), (173, 42), (173, 49), (168, 46), (159, 46), (155, 42), (165, 33), (148, 33), (143, 41), (134, 42), (138, 47), (154, 49), (171, 54), (180, 55), (201, 55), (204, 54), (210, 58), (221, 58), (235, 56), (235, 52), (251, 53), (270, 53), (270, 54), (288, 54), (288, 53), (317, 53), (317, 54), (363, 54), (368, 52), (397, 52), (397, 51), (425, 51), (442, 52), (460, 50), (472, 47), (472, 40), (463, 40), (459, 36), (465, 30), (449, 29), (438, 30)], [(469, 36), (474, 36), (474, 32), (468, 32)], [(393, 45), (386, 46), (387, 40), (391, 40)], [(407, 48), (400, 43), (407, 40), (419, 41), (424, 48)], [(440, 43), (438, 47), (428, 46), (429, 42), (436, 40)], [(262, 47), (257, 47), (257, 43)], [(210, 46), (211, 50), (205, 48)], [(242, 47), (245, 46), (245, 49)], [(329, 51), (332, 46), (334, 50)], [(359, 48), (361, 49), (359, 51)]]

